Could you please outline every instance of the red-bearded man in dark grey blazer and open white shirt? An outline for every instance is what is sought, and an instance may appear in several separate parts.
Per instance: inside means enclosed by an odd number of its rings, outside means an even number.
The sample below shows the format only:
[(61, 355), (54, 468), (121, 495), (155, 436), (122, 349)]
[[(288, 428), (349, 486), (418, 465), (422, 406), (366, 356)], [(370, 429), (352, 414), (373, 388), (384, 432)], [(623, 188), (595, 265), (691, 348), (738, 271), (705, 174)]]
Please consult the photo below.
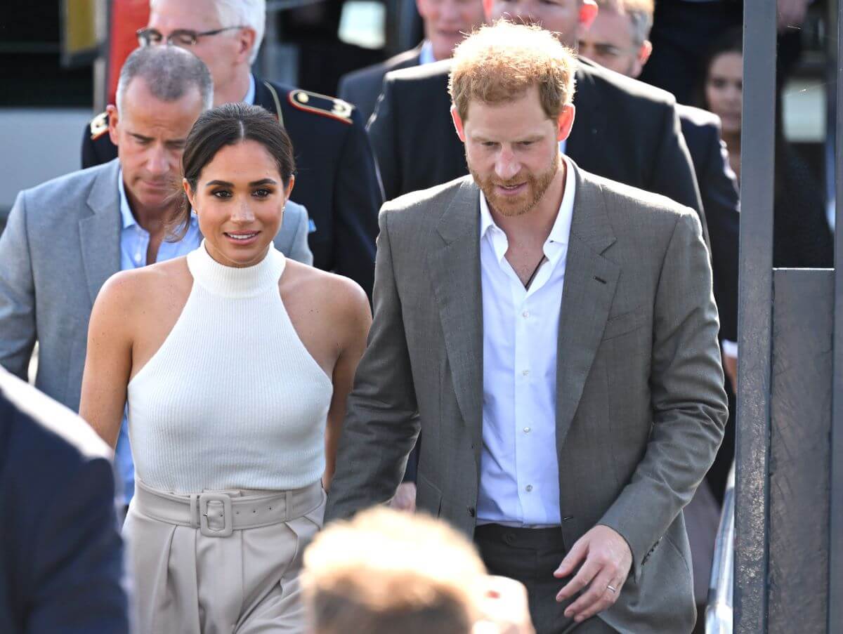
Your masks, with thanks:
[(726, 422), (711, 265), (693, 209), (560, 152), (573, 74), (535, 26), (457, 47), (470, 175), (380, 213), (326, 519), (388, 502), (423, 428), (417, 507), (524, 583), (539, 634), (689, 632), (681, 510)]

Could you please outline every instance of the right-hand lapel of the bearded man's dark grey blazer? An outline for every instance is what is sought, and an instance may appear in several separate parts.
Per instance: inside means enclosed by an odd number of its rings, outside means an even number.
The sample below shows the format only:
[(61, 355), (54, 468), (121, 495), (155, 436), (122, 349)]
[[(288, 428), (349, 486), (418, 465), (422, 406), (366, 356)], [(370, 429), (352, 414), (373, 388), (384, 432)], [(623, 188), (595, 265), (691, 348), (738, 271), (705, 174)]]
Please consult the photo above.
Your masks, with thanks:
[(583, 395), (615, 296), (620, 266), (602, 254), (615, 243), (600, 185), (574, 165), (576, 196), (556, 346), (556, 449)]

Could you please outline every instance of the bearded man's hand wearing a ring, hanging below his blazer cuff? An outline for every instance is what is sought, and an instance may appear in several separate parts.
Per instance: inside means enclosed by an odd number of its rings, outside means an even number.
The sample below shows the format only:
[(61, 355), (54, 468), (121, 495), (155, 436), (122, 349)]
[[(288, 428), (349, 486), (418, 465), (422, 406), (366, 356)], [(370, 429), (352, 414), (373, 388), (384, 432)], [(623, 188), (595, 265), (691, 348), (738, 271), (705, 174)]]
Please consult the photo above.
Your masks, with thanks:
[(618, 600), (632, 566), (632, 552), (617, 531), (598, 525), (577, 540), (553, 576), (568, 577), (581, 562), (579, 572), (556, 594), (557, 601), (564, 601), (588, 586), (565, 610), (565, 615), (577, 623)]

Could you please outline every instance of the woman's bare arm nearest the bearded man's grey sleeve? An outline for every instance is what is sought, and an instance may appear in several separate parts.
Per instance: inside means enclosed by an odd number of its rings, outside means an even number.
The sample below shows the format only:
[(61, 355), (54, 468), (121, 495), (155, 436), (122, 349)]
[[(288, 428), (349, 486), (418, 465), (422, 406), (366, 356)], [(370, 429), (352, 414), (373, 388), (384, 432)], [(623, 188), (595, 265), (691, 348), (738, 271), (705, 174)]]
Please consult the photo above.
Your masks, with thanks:
[(336, 448), (340, 442), (342, 422), (346, 417), (346, 400), (352, 391), (354, 373), (366, 349), (366, 338), (372, 325), (372, 310), (369, 309), (368, 298), (362, 288), (354, 282), (343, 282), (345, 292), (337, 293), (335, 298), (341, 307), (330, 311), (339, 319), (332, 325), (342, 333), (341, 352), (334, 365), (333, 384), (334, 395), (330, 400), (328, 410), (328, 424), (325, 427), (325, 475), (322, 484), (325, 491), (330, 486), (330, 479), (334, 475), (336, 465)]

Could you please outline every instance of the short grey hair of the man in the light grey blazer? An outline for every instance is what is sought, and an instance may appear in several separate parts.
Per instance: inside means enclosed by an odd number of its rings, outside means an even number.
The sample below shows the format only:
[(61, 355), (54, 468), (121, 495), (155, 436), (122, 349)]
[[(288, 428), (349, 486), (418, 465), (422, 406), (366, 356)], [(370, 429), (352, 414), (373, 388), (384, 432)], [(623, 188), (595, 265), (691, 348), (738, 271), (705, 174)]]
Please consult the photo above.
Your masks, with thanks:
[(132, 51), (117, 82), (117, 109), (123, 109), (126, 89), (134, 78), (146, 80), (149, 91), (162, 101), (181, 99), (191, 86), (199, 89), (202, 110), (213, 106), (211, 72), (197, 56), (178, 46), (142, 46)]

